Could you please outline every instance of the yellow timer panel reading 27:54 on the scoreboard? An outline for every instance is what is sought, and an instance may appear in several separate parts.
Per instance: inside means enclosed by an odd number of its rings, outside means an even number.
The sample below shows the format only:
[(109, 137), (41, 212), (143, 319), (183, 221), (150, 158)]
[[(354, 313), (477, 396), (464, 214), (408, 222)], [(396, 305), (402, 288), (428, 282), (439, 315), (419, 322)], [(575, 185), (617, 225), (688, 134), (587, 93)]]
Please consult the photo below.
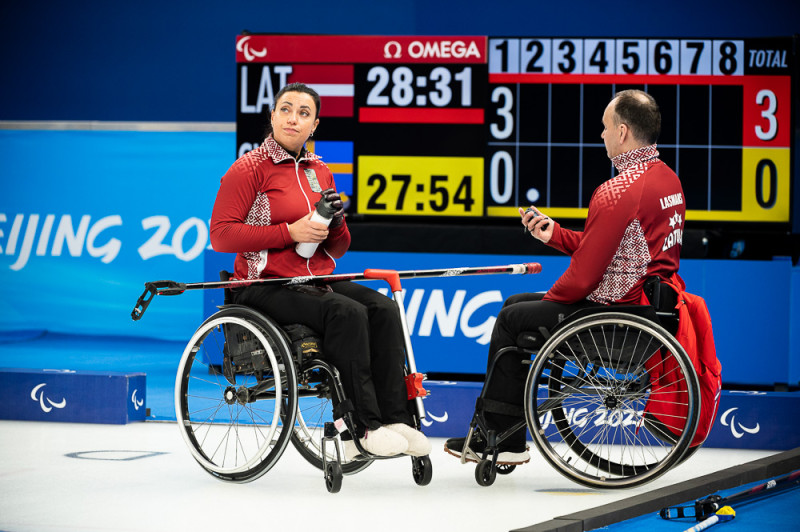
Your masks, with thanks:
[(482, 216), (483, 158), (358, 158), (358, 212)]

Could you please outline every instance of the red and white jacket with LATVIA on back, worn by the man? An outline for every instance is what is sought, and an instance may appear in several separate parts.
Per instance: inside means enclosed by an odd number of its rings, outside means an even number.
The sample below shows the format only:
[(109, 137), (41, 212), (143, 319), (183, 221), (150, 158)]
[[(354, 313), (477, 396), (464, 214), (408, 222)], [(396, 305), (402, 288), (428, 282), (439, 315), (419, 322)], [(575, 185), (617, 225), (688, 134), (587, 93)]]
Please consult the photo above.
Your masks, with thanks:
[(648, 277), (678, 271), (686, 214), (678, 176), (658, 159), (655, 144), (612, 163), (619, 174), (594, 191), (584, 230), (554, 222), (548, 245), (572, 260), (546, 300), (638, 304)]

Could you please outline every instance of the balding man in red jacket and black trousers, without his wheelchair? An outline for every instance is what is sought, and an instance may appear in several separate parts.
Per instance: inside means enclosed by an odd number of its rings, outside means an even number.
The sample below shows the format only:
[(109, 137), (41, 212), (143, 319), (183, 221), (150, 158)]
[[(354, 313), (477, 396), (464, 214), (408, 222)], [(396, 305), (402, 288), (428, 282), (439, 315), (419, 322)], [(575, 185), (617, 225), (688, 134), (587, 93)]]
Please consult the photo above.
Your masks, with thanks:
[[(619, 173), (594, 191), (584, 230), (561, 227), (534, 207), (520, 209), (526, 231), (570, 255), (571, 260), (547, 293), (511, 296), (497, 316), (489, 347), (490, 371), (481, 400), (486, 428), (497, 434), (524, 421), (522, 405), (529, 367), (522, 363), (529, 355), (496, 358), (498, 351), (518, 345), (523, 332), (552, 331), (580, 309), (639, 305), (645, 301), (643, 290), (648, 279), (667, 280), (678, 271), (685, 202), (678, 176), (658, 158), (658, 105), (645, 92), (622, 91), (610, 101), (602, 121), (601, 137)], [(522, 423), (513, 433), (498, 439), (496, 463), (513, 466), (528, 462), (525, 436)], [(475, 461), (476, 454), (483, 453), (485, 439), (483, 431), (474, 432), (466, 460)], [(465, 443), (466, 438), (449, 439), (445, 451), (462, 457)]]

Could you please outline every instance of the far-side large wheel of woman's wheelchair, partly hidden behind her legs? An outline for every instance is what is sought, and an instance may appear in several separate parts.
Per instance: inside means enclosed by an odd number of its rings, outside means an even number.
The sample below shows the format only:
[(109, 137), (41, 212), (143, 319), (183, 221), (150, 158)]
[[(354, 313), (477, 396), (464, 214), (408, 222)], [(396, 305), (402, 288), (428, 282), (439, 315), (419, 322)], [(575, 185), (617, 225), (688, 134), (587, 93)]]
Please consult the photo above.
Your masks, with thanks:
[[(306, 372), (308, 382), (300, 385), (298, 390), (297, 418), (292, 432), (292, 445), (316, 467), (323, 468), (322, 437), (325, 433), (325, 422), (333, 421), (334, 393), (329, 384), (329, 376), (322, 369)], [(341, 447), (340, 447), (341, 448)], [(335, 462), (334, 446), (327, 448), (326, 462)], [(341, 456), (341, 469), (344, 475), (354, 475), (372, 464), (372, 460), (346, 460)]]

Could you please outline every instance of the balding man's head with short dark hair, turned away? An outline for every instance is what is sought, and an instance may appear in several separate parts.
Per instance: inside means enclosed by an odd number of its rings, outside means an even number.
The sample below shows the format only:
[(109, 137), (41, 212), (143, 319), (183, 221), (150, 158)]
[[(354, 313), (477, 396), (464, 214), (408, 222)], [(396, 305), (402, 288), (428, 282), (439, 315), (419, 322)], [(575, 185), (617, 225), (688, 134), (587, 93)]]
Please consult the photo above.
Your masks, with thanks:
[(603, 113), (608, 157), (655, 144), (661, 133), (661, 111), (652, 96), (640, 90), (618, 92)]

